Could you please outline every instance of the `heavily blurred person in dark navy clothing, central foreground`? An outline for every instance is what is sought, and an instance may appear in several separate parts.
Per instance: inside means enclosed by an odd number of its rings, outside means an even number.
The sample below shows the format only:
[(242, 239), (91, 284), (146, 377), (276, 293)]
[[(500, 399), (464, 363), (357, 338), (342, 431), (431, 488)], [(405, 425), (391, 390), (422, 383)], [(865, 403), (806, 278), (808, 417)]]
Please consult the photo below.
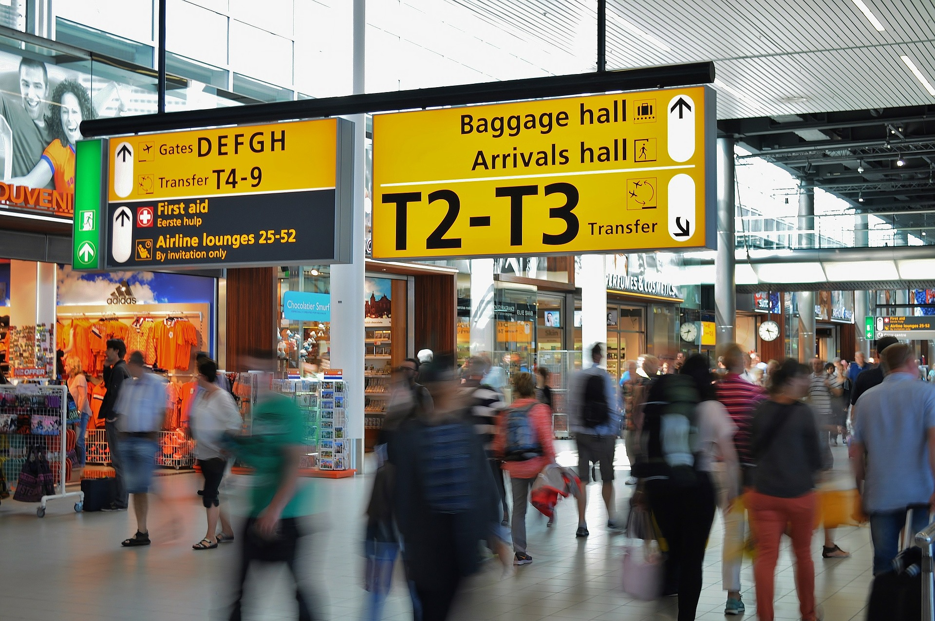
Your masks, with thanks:
[(425, 373), (434, 408), (403, 421), (387, 445), (396, 468), (394, 514), (417, 599), (413, 617), (422, 621), (448, 618), (458, 586), (477, 570), (478, 543), (490, 539), (498, 513), (470, 406), (442, 368), (436, 361)]

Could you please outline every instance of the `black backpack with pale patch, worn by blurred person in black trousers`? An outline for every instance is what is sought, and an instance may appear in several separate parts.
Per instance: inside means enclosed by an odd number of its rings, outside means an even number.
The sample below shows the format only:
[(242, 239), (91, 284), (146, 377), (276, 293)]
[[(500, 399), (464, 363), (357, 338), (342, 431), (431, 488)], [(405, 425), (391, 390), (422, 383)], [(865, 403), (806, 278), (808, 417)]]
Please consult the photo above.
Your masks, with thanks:
[(676, 484), (694, 484), (698, 464), (698, 389), (684, 375), (663, 375), (646, 399), (643, 432), (646, 463), (640, 478), (666, 477)]

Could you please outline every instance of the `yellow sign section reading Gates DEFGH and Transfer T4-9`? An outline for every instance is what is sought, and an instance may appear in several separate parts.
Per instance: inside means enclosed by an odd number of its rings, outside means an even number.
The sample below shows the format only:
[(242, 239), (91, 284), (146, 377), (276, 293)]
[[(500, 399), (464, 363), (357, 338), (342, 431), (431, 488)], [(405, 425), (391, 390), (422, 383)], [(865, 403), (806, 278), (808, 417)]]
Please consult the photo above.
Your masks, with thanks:
[(109, 201), (334, 188), (337, 119), (110, 140)]

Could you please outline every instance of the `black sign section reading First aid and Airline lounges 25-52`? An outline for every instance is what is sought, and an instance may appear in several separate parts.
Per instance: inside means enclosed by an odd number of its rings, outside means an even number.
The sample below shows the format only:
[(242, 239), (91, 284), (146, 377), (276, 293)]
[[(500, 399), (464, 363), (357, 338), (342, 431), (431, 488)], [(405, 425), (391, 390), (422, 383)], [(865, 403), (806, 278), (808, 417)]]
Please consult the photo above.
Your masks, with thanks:
[(108, 268), (285, 265), (335, 252), (333, 189), (116, 202), (107, 219)]

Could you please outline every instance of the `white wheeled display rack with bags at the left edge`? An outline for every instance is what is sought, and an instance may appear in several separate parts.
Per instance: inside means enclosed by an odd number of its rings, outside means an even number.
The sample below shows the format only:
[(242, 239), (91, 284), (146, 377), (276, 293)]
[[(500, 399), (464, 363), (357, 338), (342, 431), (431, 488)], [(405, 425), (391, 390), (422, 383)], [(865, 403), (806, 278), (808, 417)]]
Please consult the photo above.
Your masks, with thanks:
[[(59, 498), (78, 498), (75, 511), (84, 509), (83, 492), (66, 492), (68, 469), (68, 389), (35, 383), (0, 385), (0, 456), (7, 484), (16, 487), (25, 457), (32, 446), (41, 446), (49, 460), (53, 494), (39, 501), (38, 517), (45, 517), (46, 503)], [(28, 426), (27, 426), (28, 423)]]

